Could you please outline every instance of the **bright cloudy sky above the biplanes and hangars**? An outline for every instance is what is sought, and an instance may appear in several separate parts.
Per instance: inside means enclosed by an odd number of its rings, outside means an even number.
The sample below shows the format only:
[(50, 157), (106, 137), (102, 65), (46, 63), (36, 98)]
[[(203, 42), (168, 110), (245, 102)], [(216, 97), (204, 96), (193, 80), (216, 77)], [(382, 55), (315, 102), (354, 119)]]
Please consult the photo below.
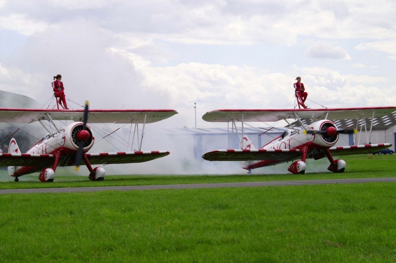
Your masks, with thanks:
[[(396, 105), (391, 0), (0, 0), (0, 89), (42, 105), (62, 75), (72, 108)], [(0, 102), (1, 103), (1, 102)]]

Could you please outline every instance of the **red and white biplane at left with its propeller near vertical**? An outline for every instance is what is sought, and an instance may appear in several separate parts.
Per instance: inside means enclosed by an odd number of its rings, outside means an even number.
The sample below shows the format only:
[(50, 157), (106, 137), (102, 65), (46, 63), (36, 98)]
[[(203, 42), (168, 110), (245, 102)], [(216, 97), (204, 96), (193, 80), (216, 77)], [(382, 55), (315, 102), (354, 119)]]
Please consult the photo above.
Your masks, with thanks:
[[(47, 135), (37, 141), (26, 153), (21, 153), (14, 138), (10, 139), (8, 153), (0, 153), (0, 167), (8, 167), (8, 174), (18, 181), (18, 177), (40, 172), (42, 182), (54, 179), (58, 166), (80, 166), (81, 160), (87, 166), (91, 180), (103, 180), (105, 171), (92, 165), (141, 163), (167, 156), (168, 151), (141, 151), (145, 125), (158, 122), (177, 114), (175, 110), (89, 110), (88, 101), (84, 109), (0, 109), (0, 122), (39, 122), (47, 130)], [(90, 120), (88, 122), (88, 119)], [(58, 128), (55, 121), (67, 125)], [(88, 153), (95, 142), (90, 124), (112, 123), (135, 125), (138, 149), (126, 152)], [(139, 124), (143, 124), (139, 136)], [(12, 136), (12, 135), (11, 135)], [(133, 144), (133, 142), (132, 142)]]

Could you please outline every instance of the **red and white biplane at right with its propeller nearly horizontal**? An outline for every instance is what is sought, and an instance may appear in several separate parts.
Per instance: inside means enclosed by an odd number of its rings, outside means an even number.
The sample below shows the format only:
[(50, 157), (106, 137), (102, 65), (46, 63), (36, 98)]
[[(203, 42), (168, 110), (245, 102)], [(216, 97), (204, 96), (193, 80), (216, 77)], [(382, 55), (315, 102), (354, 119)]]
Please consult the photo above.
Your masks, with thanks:
[[(288, 171), (304, 174), (307, 158), (318, 160), (324, 157), (330, 161), (328, 170), (343, 173), (346, 162), (333, 156), (367, 154), (389, 148), (390, 143), (370, 142), (349, 146), (338, 146), (340, 133), (369, 134), (373, 126), (382, 122), (388, 128), (396, 123), (396, 107), (362, 107), (333, 109), (223, 109), (207, 112), (202, 116), (207, 122), (231, 122), (233, 132), (238, 129), (236, 122), (242, 123), (240, 149), (214, 150), (203, 154), (207, 161), (240, 161), (243, 168), (251, 173), (252, 169), (292, 162)], [(282, 135), (256, 149), (244, 134), (245, 122), (277, 122), (284, 120), (289, 129)], [(344, 126), (343, 129), (340, 129)], [(359, 137), (360, 138), (360, 137)]]

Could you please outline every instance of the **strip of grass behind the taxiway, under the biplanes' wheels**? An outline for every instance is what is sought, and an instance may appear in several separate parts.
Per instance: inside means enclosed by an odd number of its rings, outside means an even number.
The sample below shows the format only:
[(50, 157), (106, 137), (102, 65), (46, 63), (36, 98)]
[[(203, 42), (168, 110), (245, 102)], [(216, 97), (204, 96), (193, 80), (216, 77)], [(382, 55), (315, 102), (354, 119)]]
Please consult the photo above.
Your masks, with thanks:
[[(346, 172), (334, 174), (327, 171), (329, 163), (326, 158), (319, 161), (307, 160), (305, 175), (292, 174), (259, 174), (265, 168), (253, 170), (253, 175), (247, 175), (241, 169), (239, 175), (106, 175), (104, 181), (92, 182), (88, 176), (58, 176), (53, 183), (42, 183), (38, 173), (23, 175), (18, 183), (13, 181), (5, 170), (0, 173), (0, 189), (13, 188), (49, 188), (49, 187), (89, 187), (89, 186), (116, 186), (116, 185), (156, 185), (181, 183), (215, 183), (215, 182), (244, 182), (244, 181), (278, 181), (304, 179), (336, 179), (336, 178), (363, 178), (363, 177), (393, 177), (396, 174), (396, 154), (393, 155), (355, 155), (343, 156), (347, 162)], [(284, 173), (290, 164), (281, 164), (279, 171)], [(276, 167), (278, 167), (276, 166)], [(392, 169), (393, 168), (393, 169)], [(58, 168), (62, 169), (62, 168)], [(310, 172), (319, 170), (323, 172)], [(216, 171), (213, 171), (214, 173)], [(73, 174), (73, 173), (72, 173)]]

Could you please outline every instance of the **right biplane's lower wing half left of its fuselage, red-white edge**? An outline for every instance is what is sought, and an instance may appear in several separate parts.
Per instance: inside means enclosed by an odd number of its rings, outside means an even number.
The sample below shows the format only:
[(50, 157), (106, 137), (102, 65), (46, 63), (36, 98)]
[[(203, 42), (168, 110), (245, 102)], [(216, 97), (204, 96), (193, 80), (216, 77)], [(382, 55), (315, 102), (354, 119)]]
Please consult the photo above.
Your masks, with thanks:
[(301, 156), (298, 149), (216, 150), (205, 153), (207, 161), (288, 161)]

